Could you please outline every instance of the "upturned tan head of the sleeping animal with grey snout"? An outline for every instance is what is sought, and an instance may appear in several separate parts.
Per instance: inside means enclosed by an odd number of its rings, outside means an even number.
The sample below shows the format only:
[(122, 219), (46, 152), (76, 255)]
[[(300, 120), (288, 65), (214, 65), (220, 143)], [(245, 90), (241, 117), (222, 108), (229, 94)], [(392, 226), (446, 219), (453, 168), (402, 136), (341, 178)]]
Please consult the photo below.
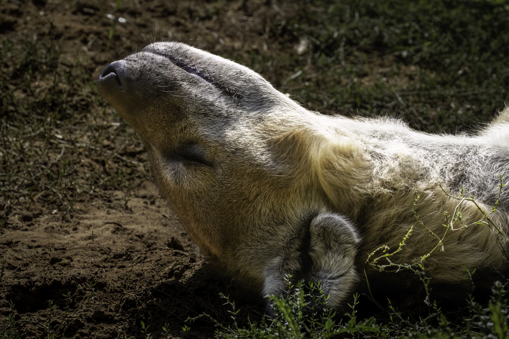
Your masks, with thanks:
[[(303, 270), (328, 211), (304, 140), (317, 114), (246, 67), (175, 42), (108, 65), (97, 89), (142, 137), (160, 190), (205, 255), (265, 293)], [(357, 242), (348, 221), (322, 214), (348, 229), (339, 243)]]

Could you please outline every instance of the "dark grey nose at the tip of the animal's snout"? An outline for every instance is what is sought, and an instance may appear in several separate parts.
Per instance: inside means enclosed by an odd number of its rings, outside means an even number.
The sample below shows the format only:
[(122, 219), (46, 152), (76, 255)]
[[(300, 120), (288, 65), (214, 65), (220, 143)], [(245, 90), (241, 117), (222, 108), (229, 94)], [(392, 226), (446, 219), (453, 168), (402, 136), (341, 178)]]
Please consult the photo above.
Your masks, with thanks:
[[(118, 60), (106, 66), (97, 77), (97, 90), (104, 98), (125, 91), (125, 80), (130, 78), (125, 60)], [(107, 99), (107, 98), (106, 98)]]

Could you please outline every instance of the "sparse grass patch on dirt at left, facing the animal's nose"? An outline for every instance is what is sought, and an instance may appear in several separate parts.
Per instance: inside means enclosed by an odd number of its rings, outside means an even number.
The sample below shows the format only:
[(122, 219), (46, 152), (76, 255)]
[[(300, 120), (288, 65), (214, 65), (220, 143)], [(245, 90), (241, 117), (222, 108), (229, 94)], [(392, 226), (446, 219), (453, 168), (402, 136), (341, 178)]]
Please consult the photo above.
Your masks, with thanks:
[(146, 165), (142, 143), (91, 71), (38, 40), (5, 39), (0, 59), (0, 204), (41, 200), (70, 212), (83, 193), (118, 189), (127, 209), (129, 179)]

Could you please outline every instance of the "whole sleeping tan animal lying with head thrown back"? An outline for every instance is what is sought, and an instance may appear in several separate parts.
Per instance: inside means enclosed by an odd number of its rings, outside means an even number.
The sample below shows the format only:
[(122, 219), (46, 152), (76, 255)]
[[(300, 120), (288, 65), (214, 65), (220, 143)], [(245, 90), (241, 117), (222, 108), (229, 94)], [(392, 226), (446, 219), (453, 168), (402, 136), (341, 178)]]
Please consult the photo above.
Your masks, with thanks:
[[(339, 309), (359, 280), (408, 287), (415, 277), (366, 263), (382, 245), (412, 263), (437, 245), (454, 196), (475, 196), (498, 225), (449, 232), (426, 258), (432, 286), (465, 291), (467, 270), (491, 285), (505, 272), (509, 110), (475, 135), (430, 135), (395, 119), (325, 116), (262, 76), (177, 42), (109, 64), (99, 93), (142, 138), (154, 178), (206, 259), (262, 295), (286, 276), (320, 282)], [(420, 201), (412, 211), (412, 202)], [(428, 227), (420, 229), (415, 216)], [(471, 201), (464, 223), (483, 218)], [(418, 280), (417, 280), (418, 281)]]

